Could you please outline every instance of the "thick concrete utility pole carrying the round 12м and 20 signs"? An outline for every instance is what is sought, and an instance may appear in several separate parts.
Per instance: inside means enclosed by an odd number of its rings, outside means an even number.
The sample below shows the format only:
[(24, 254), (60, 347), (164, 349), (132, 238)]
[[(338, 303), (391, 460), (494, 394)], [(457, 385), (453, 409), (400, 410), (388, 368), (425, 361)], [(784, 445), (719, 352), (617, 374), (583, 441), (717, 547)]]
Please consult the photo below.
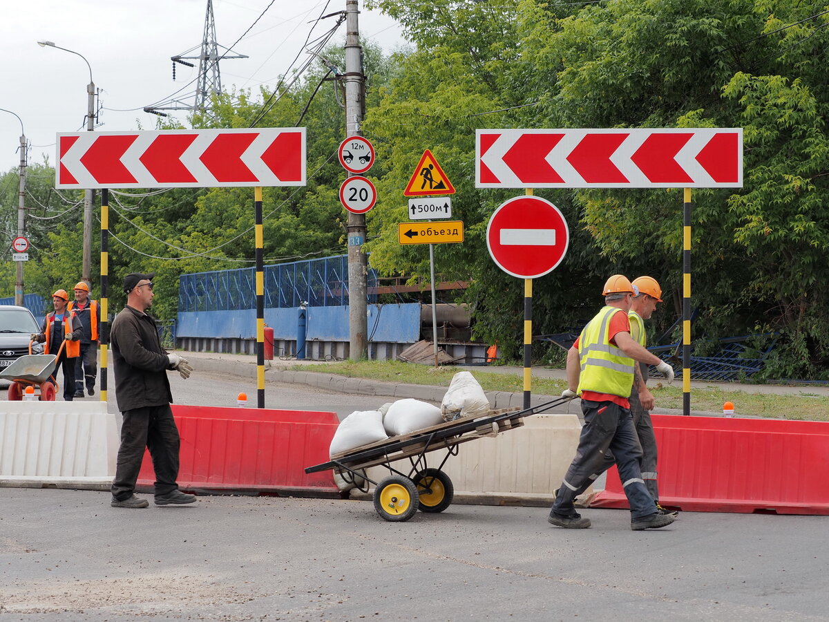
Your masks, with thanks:
[[(357, 25), (357, 0), (346, 0), (346, 138), (360, 136), (366, 95), (362, 47)], [(368, 354), (366, 318), (366, 215), (348, 212), (348, 334), (349, 358)]]

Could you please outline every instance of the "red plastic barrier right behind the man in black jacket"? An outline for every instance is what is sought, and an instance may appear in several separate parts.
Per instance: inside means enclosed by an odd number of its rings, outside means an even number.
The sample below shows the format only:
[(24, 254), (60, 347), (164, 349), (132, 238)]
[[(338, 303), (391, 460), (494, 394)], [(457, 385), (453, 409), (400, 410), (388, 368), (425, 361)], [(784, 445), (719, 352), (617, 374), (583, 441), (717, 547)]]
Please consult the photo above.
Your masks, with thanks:
[[(182, 438), (178, 485), (187, 489), (337, 494), (328, 460), (339, 420), (333, 412), (172, 406)], [(155, 481), (144, 452), (138, 485)]]

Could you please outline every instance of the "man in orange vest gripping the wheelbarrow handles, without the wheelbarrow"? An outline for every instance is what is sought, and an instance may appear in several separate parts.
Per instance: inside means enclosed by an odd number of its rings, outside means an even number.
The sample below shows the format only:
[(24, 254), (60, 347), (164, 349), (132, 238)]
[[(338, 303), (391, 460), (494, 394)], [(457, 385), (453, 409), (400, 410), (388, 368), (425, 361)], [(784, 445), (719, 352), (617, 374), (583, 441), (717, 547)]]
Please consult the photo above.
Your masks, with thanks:
[(46, 342), (44, 352), (58, 355), (51, 381), (57, 386), (57, 368), (63, 367), (63, 399), (72, 401), (75, 397), (75, 360), (80, 355), (81, 324), (75, 313), (66, 309), (67, 302), (69, 294), (65, 289), (58, 289), (52, 294), (55, 310), (46, 313), (41, 332), (33, 334), (32, 341)]

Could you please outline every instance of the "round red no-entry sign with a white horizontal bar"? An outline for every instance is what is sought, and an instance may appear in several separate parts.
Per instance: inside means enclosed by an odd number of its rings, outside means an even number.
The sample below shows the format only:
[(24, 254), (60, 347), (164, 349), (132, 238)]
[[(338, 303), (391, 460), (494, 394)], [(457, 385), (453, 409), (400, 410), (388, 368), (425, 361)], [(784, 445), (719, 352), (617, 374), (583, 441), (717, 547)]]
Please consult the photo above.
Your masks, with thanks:
[(507, 275), (537, 279), (555, 270), (570, 245), (570, 230), (558, 207), (541, 197), (503, 202), (487, 225), (487, 248)]

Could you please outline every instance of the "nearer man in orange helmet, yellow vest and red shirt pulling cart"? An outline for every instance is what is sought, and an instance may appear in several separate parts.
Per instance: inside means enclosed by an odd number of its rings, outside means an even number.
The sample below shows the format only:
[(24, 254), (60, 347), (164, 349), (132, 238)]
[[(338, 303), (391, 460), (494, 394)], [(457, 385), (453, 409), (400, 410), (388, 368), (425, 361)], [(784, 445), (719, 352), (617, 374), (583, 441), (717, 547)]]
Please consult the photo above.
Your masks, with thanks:
[(628, 400), (636, 370), (635, 361), (657, 366), (668, 381), (673, 369), (648, 352), (630, 334), (628, 309), (637, 294), (633, 284), (623, 275), (613, 275), (604, 284), (603, 309), (584, 327), (573, 347), (567, 352), (569, 388), (562, 396), (581, 397), (584, 427), (579, 448), (565, 479), (555, 495), (549, 522), (559, 527), (585, 529), (589, 518), (582, 518), (574, 508), (574, 498), (602, 473), (604, 456), (613, 452), (630, 504), (634, 531), (657, 529), (674, 521), (671, 514), (662, 514), (642, 480), (639, 459), (642, 448), (636, 436)]

